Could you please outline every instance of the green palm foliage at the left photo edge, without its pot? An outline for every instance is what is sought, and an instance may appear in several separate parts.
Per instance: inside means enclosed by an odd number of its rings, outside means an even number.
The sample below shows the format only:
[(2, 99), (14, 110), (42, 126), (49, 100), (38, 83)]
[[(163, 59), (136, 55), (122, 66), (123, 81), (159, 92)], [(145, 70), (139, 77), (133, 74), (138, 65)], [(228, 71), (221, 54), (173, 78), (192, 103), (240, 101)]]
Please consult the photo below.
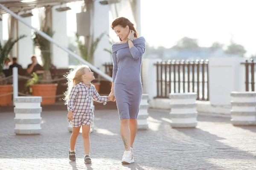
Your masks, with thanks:
[[(1, 79), (5, 78), (5, 75), (3, 74), (4, 61), (8, 58), (8, 55), (11, 52), (15, 43), (24, 37), (26, 37), (26, 35), (21, 35), (16, 40), (12, 40), (12, 38), (9, 38), (3, 45), (0, 43), (0, 78)], [(7, 82), (5, 80), (0, 81), (0, 84), (6, 84), (6, 83)]]

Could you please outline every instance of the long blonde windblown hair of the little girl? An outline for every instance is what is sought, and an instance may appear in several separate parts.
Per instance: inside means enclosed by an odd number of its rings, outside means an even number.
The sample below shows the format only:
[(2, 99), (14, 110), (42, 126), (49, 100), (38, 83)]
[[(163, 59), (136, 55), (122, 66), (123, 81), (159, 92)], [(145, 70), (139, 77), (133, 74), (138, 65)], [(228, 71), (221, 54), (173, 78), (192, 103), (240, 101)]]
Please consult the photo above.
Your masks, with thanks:
[(70, 96), (71, 89), (82, 82), (82, 75), (85, 74), (84, 68), (89, 68), (88, 65), (79, 65), (77, 68), (70, 70), (67, 75), (64, 77), (67, 78), (67, 91), (64, 93), (65, 98), (65, 105), (68, 103), (68, 99)]

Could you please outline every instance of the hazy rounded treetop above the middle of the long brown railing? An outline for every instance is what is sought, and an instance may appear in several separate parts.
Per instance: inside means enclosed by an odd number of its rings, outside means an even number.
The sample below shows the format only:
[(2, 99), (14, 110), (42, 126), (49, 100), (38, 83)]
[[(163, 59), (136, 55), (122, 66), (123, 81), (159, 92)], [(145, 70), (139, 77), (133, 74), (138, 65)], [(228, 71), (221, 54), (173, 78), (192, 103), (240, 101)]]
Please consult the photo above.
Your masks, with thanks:
[(177, 42), (175, 46), (172, 47), (172, 49), (184, 50), (184, 49), (196, 49), (198, 47), (199, 45), (198, 45), (197, 39), (183, 37), (181, 40)]

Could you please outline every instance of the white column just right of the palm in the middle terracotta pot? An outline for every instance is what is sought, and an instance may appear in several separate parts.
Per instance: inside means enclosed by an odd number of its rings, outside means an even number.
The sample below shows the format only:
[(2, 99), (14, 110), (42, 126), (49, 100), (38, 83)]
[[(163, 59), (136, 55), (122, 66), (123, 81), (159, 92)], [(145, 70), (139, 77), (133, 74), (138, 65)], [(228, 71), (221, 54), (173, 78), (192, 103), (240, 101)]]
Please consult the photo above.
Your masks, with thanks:
[[(52, 31), (54, 31), (53, 39), (61, 45), (68, 47), (67, 37), (67, 12), (58, 12), (55, 9), (59, 6), (52, 7)], [(56, 68), (68, 68), (68, 53), (52, 45), (52, 64)]]

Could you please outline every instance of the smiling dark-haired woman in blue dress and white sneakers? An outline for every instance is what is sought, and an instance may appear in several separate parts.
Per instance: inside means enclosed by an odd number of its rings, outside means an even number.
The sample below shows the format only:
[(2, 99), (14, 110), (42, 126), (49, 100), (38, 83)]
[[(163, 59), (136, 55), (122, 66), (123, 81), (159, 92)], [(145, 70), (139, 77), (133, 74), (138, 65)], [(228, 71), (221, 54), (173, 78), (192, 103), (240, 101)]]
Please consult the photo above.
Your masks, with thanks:
[(112, 45), (113, 77), (110, 99), (116, 100), (119, 112), (120, 133), (125, 145), (122, 164), (130, 164), (134, 162), (133, 143), (142, 98), (140, 70), (145, 39), (138, 37), (134, 24), (125, 17), (114, 20), (111, 28), (120, 42)]

